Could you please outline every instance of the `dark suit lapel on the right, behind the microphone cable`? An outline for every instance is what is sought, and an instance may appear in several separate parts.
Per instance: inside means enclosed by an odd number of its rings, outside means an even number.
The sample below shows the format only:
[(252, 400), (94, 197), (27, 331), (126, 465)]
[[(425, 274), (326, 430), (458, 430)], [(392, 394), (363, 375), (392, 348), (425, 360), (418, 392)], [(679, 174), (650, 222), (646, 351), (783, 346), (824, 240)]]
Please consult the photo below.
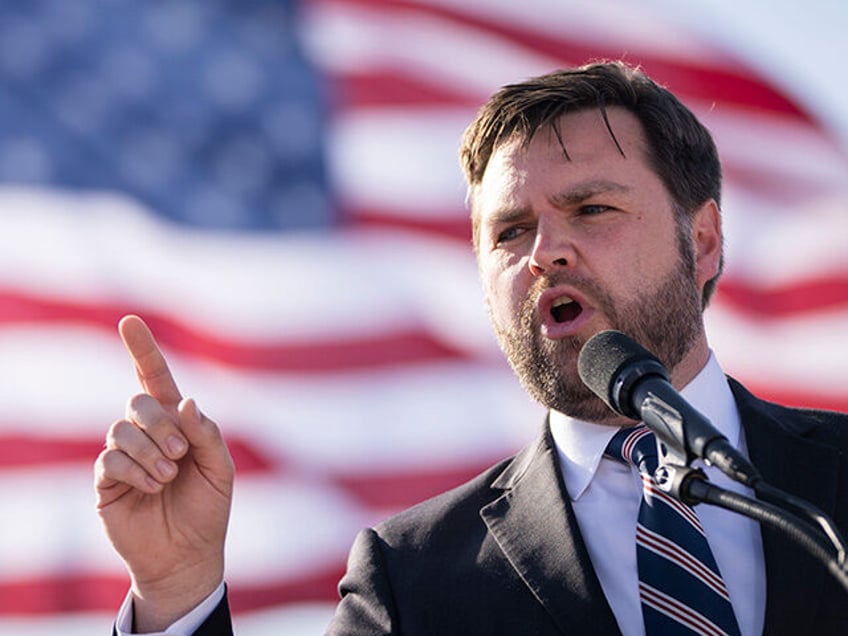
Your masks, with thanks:
[[(735, 381), (730, 382), (751, 461), (770, 485), (808, 501), (828, 515), (836, 506), (838, 455), (830, 448), (803, 439), (801, 426), (789, 412), (778, 421), (763, 402)], [(804, 423), (803, 425), (809, 426)], [(790, 430), (787, 430), (790, 429)], [(825, 577), (824, 565), (770, 527), (763, 526), (766, 562), (766, 619), (768, 634), (805, 633), (812, 623)]]

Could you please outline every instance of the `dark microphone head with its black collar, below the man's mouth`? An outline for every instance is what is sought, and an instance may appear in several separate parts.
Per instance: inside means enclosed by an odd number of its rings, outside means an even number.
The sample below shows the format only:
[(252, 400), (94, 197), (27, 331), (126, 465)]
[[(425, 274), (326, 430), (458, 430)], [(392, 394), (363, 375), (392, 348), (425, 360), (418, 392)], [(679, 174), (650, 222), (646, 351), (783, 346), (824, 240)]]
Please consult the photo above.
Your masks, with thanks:
[(631, 392), (636, 382), (646, 375), (669, 379), (668, 371), (656, 356), (620, 331), (595, 334), (577, 358), (580, 379), (595, 395), (619, 415), (642, 419), (639, 405), (633, 404)]

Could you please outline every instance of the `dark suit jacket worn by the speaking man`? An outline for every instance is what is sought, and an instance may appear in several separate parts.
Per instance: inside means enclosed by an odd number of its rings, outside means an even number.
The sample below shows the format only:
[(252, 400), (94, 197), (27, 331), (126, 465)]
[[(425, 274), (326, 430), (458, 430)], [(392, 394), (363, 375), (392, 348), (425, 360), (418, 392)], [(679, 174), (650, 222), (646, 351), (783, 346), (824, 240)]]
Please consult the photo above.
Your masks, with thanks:
[[(848, 416), (788, 409), (730, 384), (765, 480), (848, 534)], [(825, 567), (769, 528), (762, 536), (765, 633), (848, 634), (848, 594)], [(511, 460), (363, 530), (339, 591), (332, 635), (619, 633), (547, 426)], [(228, 633), (225, 618), (196, 636)]]

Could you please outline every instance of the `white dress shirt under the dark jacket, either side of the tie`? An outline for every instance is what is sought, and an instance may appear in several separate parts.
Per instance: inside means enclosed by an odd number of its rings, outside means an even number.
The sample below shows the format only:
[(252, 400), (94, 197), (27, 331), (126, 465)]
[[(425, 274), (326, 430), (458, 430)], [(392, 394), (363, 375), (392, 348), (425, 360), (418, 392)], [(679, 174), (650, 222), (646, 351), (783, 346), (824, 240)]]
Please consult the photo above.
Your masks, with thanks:
[[(707, 365), (681, 393), (747, 456), (736, 402), (715, 356), (710, 355)], [(642, 483), (634, 466), (603, 457), (616, 430), (551, 413), (551, 432), (566, 489), (601, 588), (622, 634), (641, 636), (644, 626), (635, 533)], [(750, 489), (700, 460), (693, 465), (703, 468), (713, 484), (753, 496)], [(762, 634), (766, 579), (759, 525), (707, 504), (698, 505), (695, 511), (727, 584), (743, 636)]]

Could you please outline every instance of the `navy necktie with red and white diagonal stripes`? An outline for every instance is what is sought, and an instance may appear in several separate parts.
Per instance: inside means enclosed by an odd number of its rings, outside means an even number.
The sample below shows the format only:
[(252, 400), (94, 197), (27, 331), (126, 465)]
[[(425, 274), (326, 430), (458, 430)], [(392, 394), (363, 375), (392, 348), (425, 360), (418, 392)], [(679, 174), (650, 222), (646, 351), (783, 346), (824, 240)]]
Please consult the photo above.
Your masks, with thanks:
[(654, 434), (645, 426), (618, 431), (606, 454), (636, 466), (642, 503), (636, 563), (645, 633), (738, 635), (724, 581), (695, 511), (660, 490)]

